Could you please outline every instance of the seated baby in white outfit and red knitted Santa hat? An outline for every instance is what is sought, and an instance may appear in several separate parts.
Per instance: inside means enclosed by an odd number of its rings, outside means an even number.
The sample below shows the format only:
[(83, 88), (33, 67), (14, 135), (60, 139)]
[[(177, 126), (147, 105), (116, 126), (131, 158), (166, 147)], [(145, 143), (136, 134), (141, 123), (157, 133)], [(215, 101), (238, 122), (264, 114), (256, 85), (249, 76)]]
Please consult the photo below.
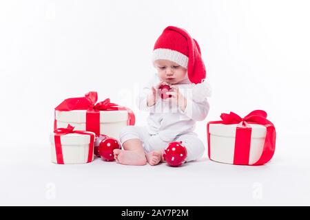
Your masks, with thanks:
[[(163, 150), (170, 142), (182, 141), (186, 162), (199, 159), (205, 146), (194, 129), (209, 111), (200, 47), (186, 30), (169, 26), (154, 45), (153, 63), (157, 73), (137, 98), (138, 108), (149, 111), (147, 126), (125, 126), (124, 150), (115, 149), (114, 158), (120, 164), (156, 165), (165, 162)], [(169, 98), (161, 97), (162, 85), (171, 87)]]

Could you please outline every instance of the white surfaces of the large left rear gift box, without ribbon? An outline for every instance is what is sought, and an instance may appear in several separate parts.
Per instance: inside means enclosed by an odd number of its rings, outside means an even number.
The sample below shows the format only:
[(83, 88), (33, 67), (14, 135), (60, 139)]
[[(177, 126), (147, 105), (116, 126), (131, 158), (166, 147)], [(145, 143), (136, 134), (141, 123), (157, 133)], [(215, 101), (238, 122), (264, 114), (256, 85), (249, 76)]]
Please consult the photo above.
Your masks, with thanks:
[[(56, 128), (65, 128), (68, 124), (76, 130), (86, 131), (86, 110), (55, 111)], [(100, 111), (100, 133), (119, 139), (119, 134), (127, 126), (128, 112)]]

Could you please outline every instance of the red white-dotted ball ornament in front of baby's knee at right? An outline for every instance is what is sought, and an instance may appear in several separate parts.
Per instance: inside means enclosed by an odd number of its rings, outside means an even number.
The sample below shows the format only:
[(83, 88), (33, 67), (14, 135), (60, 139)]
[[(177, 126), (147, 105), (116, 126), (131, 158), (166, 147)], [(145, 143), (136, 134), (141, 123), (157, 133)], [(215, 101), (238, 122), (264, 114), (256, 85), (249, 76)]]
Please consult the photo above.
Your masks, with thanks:
[(169, 166), (180, 166), (185, 162), (187, 150), (182, 142), (171, 142), (167, 148), (165, 148), (163, 157)]

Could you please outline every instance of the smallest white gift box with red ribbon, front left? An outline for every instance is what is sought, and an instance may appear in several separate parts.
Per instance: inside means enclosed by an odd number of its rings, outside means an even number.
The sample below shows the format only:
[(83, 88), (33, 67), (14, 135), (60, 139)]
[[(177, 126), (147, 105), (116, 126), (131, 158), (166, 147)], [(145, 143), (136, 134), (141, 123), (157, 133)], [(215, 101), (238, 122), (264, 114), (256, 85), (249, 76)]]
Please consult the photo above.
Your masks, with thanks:
[(74, 131), (74, 126), (55, 129), (50, 136), (52, 162), (56, 164), (83, 164), (94, 159), (94, 137), (90, 131)]

